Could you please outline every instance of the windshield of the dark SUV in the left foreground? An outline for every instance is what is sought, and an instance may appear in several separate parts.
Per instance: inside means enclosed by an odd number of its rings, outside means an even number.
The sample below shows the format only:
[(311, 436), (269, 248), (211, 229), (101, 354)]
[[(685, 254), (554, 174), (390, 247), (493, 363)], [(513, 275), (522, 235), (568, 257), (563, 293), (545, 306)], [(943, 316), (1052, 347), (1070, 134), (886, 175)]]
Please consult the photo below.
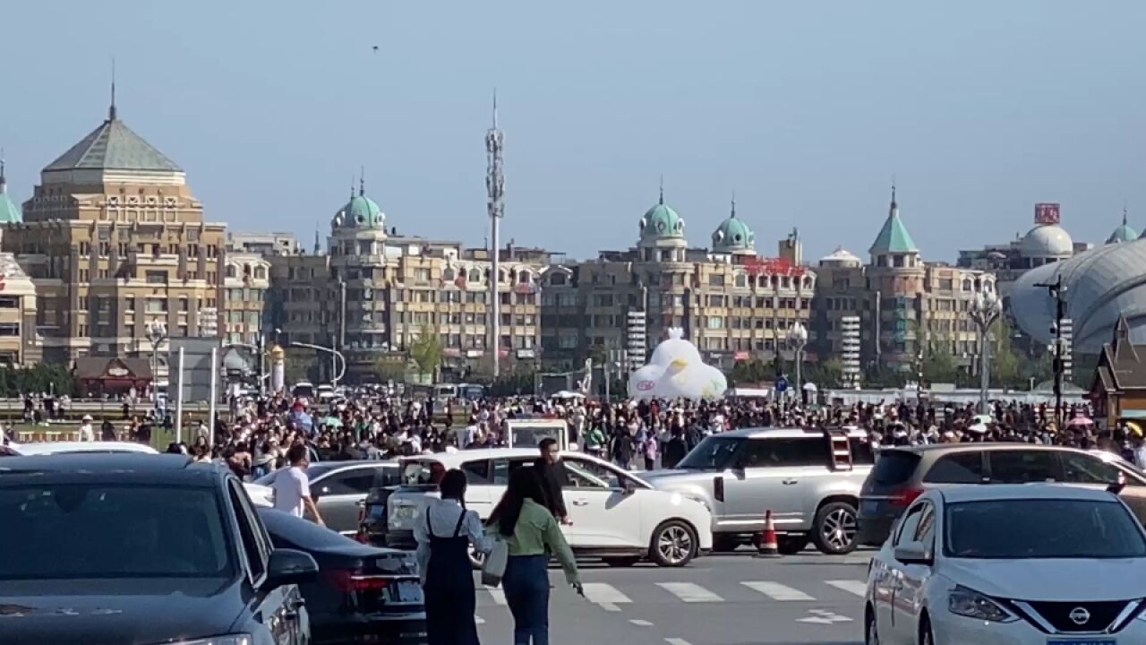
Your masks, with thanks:
[(233, 575), (212, 489), (39, 484), (0, 489), (0, 581)]

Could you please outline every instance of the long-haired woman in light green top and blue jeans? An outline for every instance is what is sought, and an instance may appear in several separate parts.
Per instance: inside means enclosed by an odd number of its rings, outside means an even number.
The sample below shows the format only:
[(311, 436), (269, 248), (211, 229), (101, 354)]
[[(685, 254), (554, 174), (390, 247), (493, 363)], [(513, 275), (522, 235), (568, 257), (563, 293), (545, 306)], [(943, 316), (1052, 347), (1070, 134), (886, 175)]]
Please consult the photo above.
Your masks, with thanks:
[(502, 586), (513, 615), (513, 645), (549, 645), (549, 554), (565, 570), (565, 581), (584, 595), (573, 550), (557, 519), (545, 507), (535, 468), (518, 468), (489, 515), (489, 528), (509, 550)]

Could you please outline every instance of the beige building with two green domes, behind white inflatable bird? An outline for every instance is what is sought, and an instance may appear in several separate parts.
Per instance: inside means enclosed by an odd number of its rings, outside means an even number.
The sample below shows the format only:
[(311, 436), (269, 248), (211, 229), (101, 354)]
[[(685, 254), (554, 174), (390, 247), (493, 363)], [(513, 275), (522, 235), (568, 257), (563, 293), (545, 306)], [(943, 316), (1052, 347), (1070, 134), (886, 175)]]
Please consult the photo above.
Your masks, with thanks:
[(678, 327), (706, 362), (725, 370), (777, 352), (791, 359), (787, 339), (809, 319), (816, 280), (801, 265), (794, 233), (777, 257), (759, 257), (735, 204), (711, 249), (690, 248), (684, 219), (662, 194), (641, 218), (635, 247), (545, 272), (542, 356), (551, 370), (579, 367), (591, 355), (620, 356), (635, 368)]

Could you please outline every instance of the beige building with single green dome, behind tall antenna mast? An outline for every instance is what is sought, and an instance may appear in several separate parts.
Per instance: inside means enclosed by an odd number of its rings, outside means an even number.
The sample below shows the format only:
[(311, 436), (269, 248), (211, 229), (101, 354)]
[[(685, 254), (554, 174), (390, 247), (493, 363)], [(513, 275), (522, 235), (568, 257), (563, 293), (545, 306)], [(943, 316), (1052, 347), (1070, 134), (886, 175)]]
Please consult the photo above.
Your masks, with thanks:
[[(440, 336), (445, 368), (489, 372), (490, 251), (387, 232), (364, 187), (335, 215), (327, 248), (270, 258), (270, 317), (284, 342), (338, 348), (350, 379), (360, 380), (430, 329)], [(499, 252), (500, 359), (528, 368), (539, 358), (539, 281), (549, 257), (512, 244)]]

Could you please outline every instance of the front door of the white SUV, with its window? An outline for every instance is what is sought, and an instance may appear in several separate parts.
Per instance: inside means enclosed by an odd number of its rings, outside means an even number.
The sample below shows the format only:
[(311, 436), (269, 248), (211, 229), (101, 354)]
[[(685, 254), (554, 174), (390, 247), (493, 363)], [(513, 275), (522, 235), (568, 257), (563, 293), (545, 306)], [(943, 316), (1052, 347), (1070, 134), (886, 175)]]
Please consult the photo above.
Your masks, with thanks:
[[(642, 518), (645, 489), (625, 489), (626, 475), (581, 457), (563, 457), (570, 484), (563, 490), (572, 524), (562, 531), (575, 549), (646, 547)], [(647, 527), (652, 530), (652, 527)]]

